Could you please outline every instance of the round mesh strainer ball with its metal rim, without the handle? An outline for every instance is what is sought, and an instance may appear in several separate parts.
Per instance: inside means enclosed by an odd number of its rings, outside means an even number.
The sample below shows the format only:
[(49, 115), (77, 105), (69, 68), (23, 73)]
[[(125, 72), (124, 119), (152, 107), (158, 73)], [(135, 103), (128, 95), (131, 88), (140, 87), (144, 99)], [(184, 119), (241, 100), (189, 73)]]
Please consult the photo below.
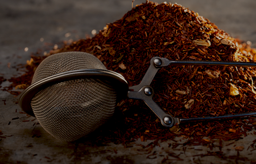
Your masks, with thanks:
[(127, 91), (125, 79), (92, 54), (64, 52), (40, 63), (19, 104), (54, 138), (70, 142), (106, 123)]

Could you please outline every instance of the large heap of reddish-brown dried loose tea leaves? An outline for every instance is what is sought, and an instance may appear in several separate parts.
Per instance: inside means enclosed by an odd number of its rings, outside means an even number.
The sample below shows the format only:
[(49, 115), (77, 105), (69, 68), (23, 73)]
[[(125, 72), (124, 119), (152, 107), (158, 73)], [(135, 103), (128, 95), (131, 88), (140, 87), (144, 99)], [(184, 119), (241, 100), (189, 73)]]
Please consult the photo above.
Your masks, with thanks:
[[(150, 1), (107, 24), (93, 38), (74, 41), (48, 55), (67, 51), (93, 54), (109, 70), (124, 75), (130, 86), (140, 83), (155, 56), (169, 60), (256, 61), (255, 49), (230, 37), (208, 19), (178, 4)], [(30, 84), (29, 75), (44, 58), (33, 56), (27, 64), (28, 72), (20, 79), (13, 78), (12, 85)], [(174, 117), (220, 116), (255, 111), (255, 73), (252, 67), (169, 66), (159, 70), (151, 86), (154, 101)], [(255, 125), (256, 120), (249, 118), (165, 128), (144, 102), (124, 100), (117, 104), (107, 128), (99, 129), (95, 141), (126, 143), (138, 138), (173, 140), (183, 136), (189, 139), (186, 144), (214, 146), (215, 139), (238, 140)]]

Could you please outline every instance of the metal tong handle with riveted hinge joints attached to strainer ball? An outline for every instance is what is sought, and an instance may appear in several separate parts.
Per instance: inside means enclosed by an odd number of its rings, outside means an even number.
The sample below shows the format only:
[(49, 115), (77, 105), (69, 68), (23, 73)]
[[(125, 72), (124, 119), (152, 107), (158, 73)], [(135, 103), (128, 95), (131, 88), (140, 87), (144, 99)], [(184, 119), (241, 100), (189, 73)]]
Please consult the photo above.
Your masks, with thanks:
[[(224, 61), (169, 61), (166, 58), (153, 57), (150, 61), (150, 66), (144, 75), (142, 81), (139, 85), (129, 87), (128, 98), (143, 100), (147, 106), (158, 116), (161, 120), (163, 126), (172, 127), (176, 123), (180, 124), (181, 122), (188, 121), (202, 121), (202, 120), (218, 120), (224, 118), (233, 118), (233, 117), (248, 117), (256, 115), (256, 112), (250, 113), (241, 113), (234, 115), (224, 115), (218, 117), (198, 117), (198, 118), (188, 118), (188, 119), (179, 119), (172, 117), (169, 114), (166, 114), (156, 102), (153, 101), (152, 97), (154, 95), (154, 90), (150, 85), (154, 79), (157, 71), (168, 65), (225, 65), (225, 66), (247, 66), (247, 67), (256, 67), (256, 62), (224, 62)], [(133, 90), (133, 91), (132, 91)]]

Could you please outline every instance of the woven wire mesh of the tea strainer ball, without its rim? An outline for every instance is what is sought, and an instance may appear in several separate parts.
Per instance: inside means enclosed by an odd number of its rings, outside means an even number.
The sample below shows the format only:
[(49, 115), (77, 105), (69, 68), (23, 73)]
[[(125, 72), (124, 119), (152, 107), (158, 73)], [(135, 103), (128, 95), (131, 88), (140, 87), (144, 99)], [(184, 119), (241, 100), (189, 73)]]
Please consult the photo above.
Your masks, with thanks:
[[(65, 52), (47, 57), (35, 71), (32, 83), (48, 76), (78, 69), (105, 69), (96, 57), (83, 52)], [(35, 117), (53, 137), (75, 141), (93, 132), (113, 114), (116, 91), (109, 82), (77, 79), (53, 84), (31, 101)]]

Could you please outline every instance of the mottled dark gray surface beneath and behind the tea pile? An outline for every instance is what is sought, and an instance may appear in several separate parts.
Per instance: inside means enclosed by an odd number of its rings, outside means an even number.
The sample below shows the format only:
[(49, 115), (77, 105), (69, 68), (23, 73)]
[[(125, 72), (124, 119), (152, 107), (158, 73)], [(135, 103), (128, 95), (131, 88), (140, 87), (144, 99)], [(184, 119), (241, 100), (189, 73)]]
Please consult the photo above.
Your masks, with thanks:
[[(144, 0), (135, 0), (134, 6), (141, 2)], [(171, 3), (175, 2), (208, 18), (233, 37), (252, 41), (252, 45), (256, 47), (255, 0), (171, 1)], [(46, 47), (49, 46), (46, 46), (45, 42), (54, 45), (63, 40), (85, 38), (86, 34), (92, 36), (93, 29), (98, 31), (103, 29), (106, 23), (120, 19), (132, 9), (131, 5), (132, 0), (0, 0), (0, 76), (9, 79), (21, 74), (13, 66), (25, 64), (26, 60), (30, 59), (30, 54), (38, 49), (47, 50)], [(67, 33), (71, 36), (65, 37)], [(41, 38), (44, 38), (44, 41), (40, 41)], [(26, 52), (25, 47), (28, 47)], [(8, 63), (10, 68), (7, 67)], [(2, 87), (8, 85), (9, 82), (1, 84)], [(6, 105), (3, 100), (6, 100)], [(210, 151), (206, 146), (194, 146), (199, 150), (189, 149), (193, 146), (185, 146), (185, 153), (181, 145), (171, 149), (168, 147), (169, 143), (173, 143), (171, 140), (159, 143), (160, 146), (155, 146), (153, 149), (149, 146), (143, 151), (140, 150), (139, 144), (147, 145), (151, 141), (138, 140), (137, 145), (128, 148), (114, 143), (108, 145), (92, 145), (87, 141), (64, 143), (52, 138), (40, 124), (33, 126), (37, 121), (33, 117), (27, 118), (25, 114), (19, 113), (21, 109), (16, 101), (17, 98), (13, 95), (0, 91), (0, 130), (3, 133), (0, 138), (0, 163), (3, 164), (156, 164), (161, 163), (163, 158), (172, 152), (176, 155), (180, 154), (179, 157), (184, 161), (169, 156), (166, 163), (227, 164), (235, 163), (236, 160), (241, 164), (250, 163), (242, 159), (227, 158), (237, 155), (235, 146), (245, 147), (239, 152), (239, 157), (256, 160), (254, 156), (256, 150), (247, 150), (256, 139), (253, 131), (248, 137), (229, 146), (225, 145), (233, 141), (223, 142), (223, 158), (196, 156)], [(12, 120), (16, 117), (19, 119)], [(29, 122), (23, 122), (24, 120)], [(8, 125), (9, 122), (11, 123)], [(178, 143), (186, 141), (184, 138), (175, 140)], [(214, 144), (218, 145), (218, 142)], [(212, 151), (219, 151), (219, 148), (215, 147)]]

